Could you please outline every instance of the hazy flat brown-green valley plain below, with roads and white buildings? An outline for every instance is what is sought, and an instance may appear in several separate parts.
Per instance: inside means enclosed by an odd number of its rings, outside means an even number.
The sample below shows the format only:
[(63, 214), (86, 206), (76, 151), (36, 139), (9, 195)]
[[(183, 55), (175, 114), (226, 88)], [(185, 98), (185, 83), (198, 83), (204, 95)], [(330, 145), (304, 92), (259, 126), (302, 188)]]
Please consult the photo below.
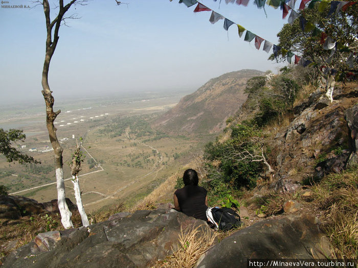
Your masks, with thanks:
[[(143, 96), (101, 104), (86, 101), (85, 107), (65, 104), (56, 119), (57, 136), (63, 147), (66, 196), (74, 201), (69, 161), (76, 141), (85, 153), (80, 187), (86, 210), (99, 209), (118, 199), (133, 203), (175, 173), (185, 156), (195, 150), (198, 139), (168, 136), (151, 129), (156, 116), (173, 107), (183, 96)], [(98, 101), (98, 100), (96, 100)], [(77, 108), (78, 107), (78, 108)], [(27, 135), (19, 150), (41, 164), (8, 163), (0, 156), (0, 184), (9, 192), (46, 202), (57, 198), (54, 156), (41, 113), (0, 118), (4, 129), (23, 129)], [(9, 127), (10, 126), (10, 127)], [(21, 127), (22, 126), (22, 127)], [(80, 138), (81, 137), (81, 138)], [(26, 148), (21, 146), (26, 145)], [(24, 147), (24, 146), (23, 146)], [(31, 150), (31, 151), (29, 151)]]

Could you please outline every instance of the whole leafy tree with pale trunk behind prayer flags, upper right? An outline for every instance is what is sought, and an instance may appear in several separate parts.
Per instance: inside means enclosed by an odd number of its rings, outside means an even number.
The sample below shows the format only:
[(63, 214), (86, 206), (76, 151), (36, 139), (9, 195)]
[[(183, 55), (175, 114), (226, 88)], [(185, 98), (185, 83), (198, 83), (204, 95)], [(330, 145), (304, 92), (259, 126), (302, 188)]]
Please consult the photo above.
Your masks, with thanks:
[[(311, 61), (320, 72), (326, 96), (332, 102), (335, 80), (344, 80), (347, 74), (356, 73), (358, 69), (354, 60), (346, 64), (358, 48), (358, 9), (355, 5), (328, 15), (329, 7), (321, 12), (315, 3), (319, 2), (312, 1), (310, 7), (299, 12), (299, 19), (292, 25), (284, 25), (277, 34), (278, 45), (284, 49), (279, 51), (278, 60), (284, 61), (289, 51)], [(332, 43), (328, 47), (329, 40), (334, 40), (335, 46)], [(274, 58), (271, 55), (269, 59)]]

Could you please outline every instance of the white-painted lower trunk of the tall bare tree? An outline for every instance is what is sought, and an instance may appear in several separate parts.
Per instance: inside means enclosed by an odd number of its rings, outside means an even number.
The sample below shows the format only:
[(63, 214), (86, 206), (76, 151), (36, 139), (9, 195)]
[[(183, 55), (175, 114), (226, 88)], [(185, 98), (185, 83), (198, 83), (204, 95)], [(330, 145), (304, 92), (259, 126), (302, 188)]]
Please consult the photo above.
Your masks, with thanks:
[(61, 214), (61, 223), (63, 227), (66, 229), (73, 228), (73, 223), (71, 221), (72, 213), (69, 207), (67, 206), (66, 198), (65, 198), (62, 168), (56, 168), (56, 181), (57, 181), (57, 204)]

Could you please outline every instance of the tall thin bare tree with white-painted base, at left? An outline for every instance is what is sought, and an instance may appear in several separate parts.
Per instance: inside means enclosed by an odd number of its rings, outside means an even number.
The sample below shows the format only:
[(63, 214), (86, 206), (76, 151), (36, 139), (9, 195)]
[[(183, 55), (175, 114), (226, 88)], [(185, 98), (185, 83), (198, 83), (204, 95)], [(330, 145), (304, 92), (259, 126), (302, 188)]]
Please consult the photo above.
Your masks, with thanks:
[(52, 148), (54, 149), (55, 154), (55, 169), (56, 169), (56, 182), (57, 182), (57, 200), (58, 200), (58, 208), (61, 214), (61, 222), (64, 228), (68, 229), (73, 227), (73, 223), (71, 221), (71, 211), (68, 208), (66, 201), (65, 201), (65, 190), (64, 190), (64, 180), (63, 180), (63, 161), (62, 161), (62, 152), (63, 149), (58, 142), (56, 131), (57, 129), (54, 126), (54, 121), (57, 115), (61, 112), (58, 110), (54, 112), (53, 105), (54, 105), (54, 97), (52, 95), (52, 91), (49, 85), (49, 69), (50, 69), (50, 62), (54, 52), (56, 50), (56, 46), (58, 44), (59, 39), (59, 29), (61, 23), (65, 23), (65, 19), (68, 18), (76, 18), (74, 15), (69, 17), (65, 17), (65, 13), (69, 11), (72, 6), (75, 5), (85, 5), (86, 0), (72, 0), (68, 4), (64, 5), (63, 0), (59, 0), (59, 6), (57, 7), (58, 14), (56, 17), (51, 20), (50, 17), (50, 4), (48, 0), (37, 1), (38, 5), (43, 6), (44, 15), (46, 18), (46, 30), (47, 30), (47, 37), (46, 37), (46, 53), (45, 59), (43, 63), (42, 69), (42, 95), (46, 104), (46, 126), (49, 132), (49, 137), (51, 141)]

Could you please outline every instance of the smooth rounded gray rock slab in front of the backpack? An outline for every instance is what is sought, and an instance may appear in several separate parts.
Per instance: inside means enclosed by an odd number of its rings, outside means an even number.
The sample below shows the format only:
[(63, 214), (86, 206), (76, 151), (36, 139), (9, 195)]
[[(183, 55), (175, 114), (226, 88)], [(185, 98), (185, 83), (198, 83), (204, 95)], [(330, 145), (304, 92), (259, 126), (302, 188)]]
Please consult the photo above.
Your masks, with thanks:
[(318, 218), (288, 215), (237, 231), (207, 251), (195, 267), (247, 267), (247, 259), (311, 259), (311, 253), (324, 258), (322, 252), (330, 256)]

